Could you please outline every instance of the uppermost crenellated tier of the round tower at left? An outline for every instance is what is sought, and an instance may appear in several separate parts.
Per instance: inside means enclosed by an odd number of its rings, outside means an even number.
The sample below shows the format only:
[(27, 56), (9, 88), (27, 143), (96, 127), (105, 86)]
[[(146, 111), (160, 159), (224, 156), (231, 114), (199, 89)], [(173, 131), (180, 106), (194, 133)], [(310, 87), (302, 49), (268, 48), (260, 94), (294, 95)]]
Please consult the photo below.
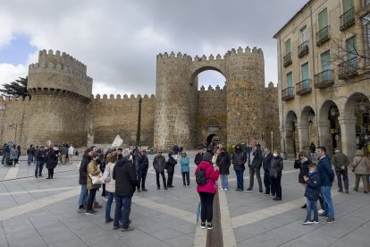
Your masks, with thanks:
[(82, 64), (79, 60), (74, 58), (73, 56), (61, 52), (59, 50), (54, 51), (52, 49), (49, 49), (46, 52), (46, 49), (41, 50), (38, 52), (38, 63), (50, 63), (54, 62), (55, 64), (63, 64), (63, 66), (71, 67), (74, 71), (80, 71), (86, 73), (87, 66), (85, 64)]

